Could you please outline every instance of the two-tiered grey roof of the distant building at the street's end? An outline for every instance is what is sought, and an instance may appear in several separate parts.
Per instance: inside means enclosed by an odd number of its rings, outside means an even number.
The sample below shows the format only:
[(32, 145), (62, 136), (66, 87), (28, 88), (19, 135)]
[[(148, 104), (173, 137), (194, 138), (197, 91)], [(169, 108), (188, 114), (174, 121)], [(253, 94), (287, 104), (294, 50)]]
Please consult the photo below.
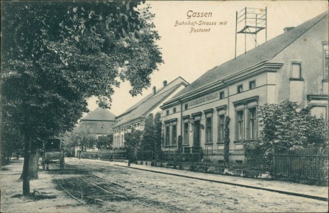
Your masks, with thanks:
[(108, 109), (96, 108), (80, 120), (79, 131), (98, 138), (113, 133), (116, 116)]

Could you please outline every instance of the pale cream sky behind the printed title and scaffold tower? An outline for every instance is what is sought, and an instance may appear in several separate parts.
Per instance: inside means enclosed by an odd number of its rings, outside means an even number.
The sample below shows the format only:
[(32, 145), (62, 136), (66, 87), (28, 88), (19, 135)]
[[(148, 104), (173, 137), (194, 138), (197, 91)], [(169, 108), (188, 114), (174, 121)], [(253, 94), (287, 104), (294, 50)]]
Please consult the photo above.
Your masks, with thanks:
[[(171, 82), (181, 76), (187, 82), (213, 67), (223, 64), (235, 53), (235, 12), (245, 8), (265, 9), (267, 7), (267, 40), (283, 33), (283, 29), (299, 24), (328, 11), (328, 1), (146, 1), (155, 13), (153, 20), (162, 37), (157, 44), (162, 48), (165, 64), (160, 65), (152, 77), (151, 87), (142, 95), (131, 97), (130, 84), (122, 83), (116, 88), (110, 111), (116, 116), (126, 111), (152, 87), (162, 87), (162, 82)], [(211, 17), (191, 17), (187, 12), (211, 13)], [(191, 13), (191, 12), (189, 12)], [(216, 26), (175, 26), (178, 22), (216, 22)], [(219, 22), (227, 21), (226, 25)], [(208, 32), (191, 33), (191, 28), (209, 29)], [(238, 35), (238, 55), (244, 53), (244, 35)], [(264, 31), (258, 34), (259, 43), (264, 40)], [(251, 45), (251, 38), (247, 43)], [(96, 109), (96, 99), (89, 99), (89, 110)]]

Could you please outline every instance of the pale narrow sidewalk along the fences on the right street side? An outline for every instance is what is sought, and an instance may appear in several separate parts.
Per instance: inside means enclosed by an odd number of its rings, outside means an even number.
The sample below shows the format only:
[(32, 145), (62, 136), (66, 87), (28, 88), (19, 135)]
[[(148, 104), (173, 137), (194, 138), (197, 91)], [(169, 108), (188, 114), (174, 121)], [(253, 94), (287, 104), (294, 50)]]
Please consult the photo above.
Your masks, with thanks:
[[(69, 158), (70, 160), (79, 160), (77, 158)], [(89, 160), (89, 159), (80, 159)], [(328, 187), (321, 187), (316, 185), (304, 185), (295, 182), (284, 182), (277, 180), (261, 180), (253, 178), (240, 178), (226, 175), (215, 175), (207, 173), (195, 173), (186, 170), (175, 170), (171, 168), (150, 167), (146, 165), (136, 165), (131, 163), (110, 162), (104, 160), (93, 160), (99, 163), (123, 166), (126, 168), (133, 168), (138, 170), (145, 170), (155, 173), (164, 173), (168, 175), (176, 175), (185, 178), (194, 178), (199, 180), (208, 180), (213, 182), (220, 182), (229, 185), (238, 185), (240, 187), (255, 188), (257, 190), (268, 190), (272, 192), (279, 192), (286, 195), (295, 195), (299, 197), (308, 197), (316, 200), (323, 200), (328, 202)]]

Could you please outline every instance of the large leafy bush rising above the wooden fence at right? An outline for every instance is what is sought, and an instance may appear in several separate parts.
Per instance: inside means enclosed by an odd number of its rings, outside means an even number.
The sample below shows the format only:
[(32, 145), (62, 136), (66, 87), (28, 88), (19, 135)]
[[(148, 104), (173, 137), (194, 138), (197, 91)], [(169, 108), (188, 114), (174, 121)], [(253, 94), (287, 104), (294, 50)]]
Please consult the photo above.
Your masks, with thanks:
[(259, 108), (260, 139), (245, 143), (246, 155), (263, 159), (272, 165), (272, 152), (293, 151), (305, 146), (328, 146), (328, 125), (323, 116), (311, 114), (311, 107), (286, 100), (280, 104), (264, 104)]

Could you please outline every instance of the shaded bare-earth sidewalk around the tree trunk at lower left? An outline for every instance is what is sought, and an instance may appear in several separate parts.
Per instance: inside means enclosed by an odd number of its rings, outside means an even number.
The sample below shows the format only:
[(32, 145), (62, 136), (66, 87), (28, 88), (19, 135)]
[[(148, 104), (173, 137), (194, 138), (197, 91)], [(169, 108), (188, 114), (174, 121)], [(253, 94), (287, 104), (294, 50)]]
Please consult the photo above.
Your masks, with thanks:
[(35, 196), (23, 197), (23, 182), (18, 180), (22, 169), (23, 158), (13, 159), (9, 165), (1, 168), (0, 212), (92, 212), (88, 206), (58, 190), (53, 181), (58, 178), (57, 175), (43, 170), (39, 170), (38, 180), (30, 180), (30, 191), (36, 191)]

